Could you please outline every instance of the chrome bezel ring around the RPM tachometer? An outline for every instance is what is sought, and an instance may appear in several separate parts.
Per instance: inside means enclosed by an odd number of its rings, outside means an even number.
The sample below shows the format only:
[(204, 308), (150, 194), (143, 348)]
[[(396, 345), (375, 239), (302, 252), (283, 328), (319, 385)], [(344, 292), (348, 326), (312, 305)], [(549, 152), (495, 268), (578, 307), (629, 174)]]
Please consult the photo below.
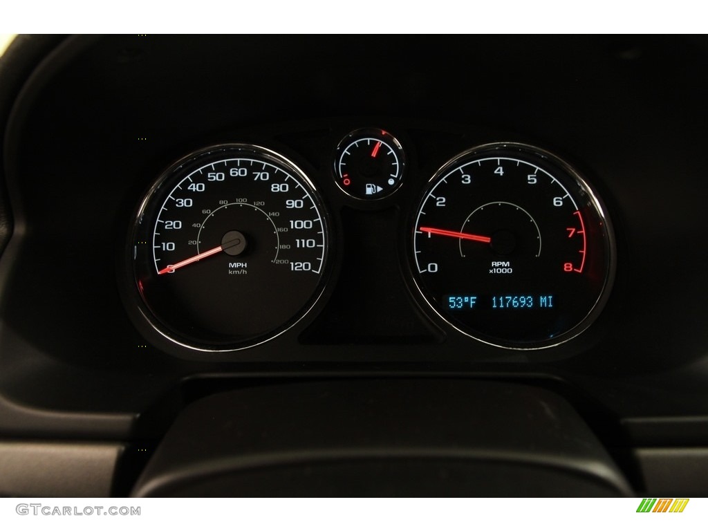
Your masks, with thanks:
[[(578, 184), (578, 187), (583, 190), (584, 195), (586, 195), (586, 203), (588, 203), (600, 219), (605, 227), (605, 252), (607, 253), (607, 268), (605, 271), (605, 277), (603, 286), (600, 290), (598, 297), (595, 299), (592, 307), (588, 310), (586, 315), (578, 321), (577, 324), (572, 326), (570, 329), (560, 333), (554, 338), (538, 341), (531, 344), (520, 343), (517, 341), (506, 341), (503, 338), (489, 338), (485, 336), (484, 333), (479, 333), (473, 330), (465, 329), (463, 326), (459, 326), (452, 319), (445, 315), (444, 312), (440, 311), (438, 304), (436, 304), (432, 297), (427, 293), (426, 287), (422, 284), (419, 278), (419, 268), (417, 265), (416, 258), (416, 229), (418, 227), (418, 219), (420, 217), (421, 209), (428, 199), (428, 195), (433, 191), (435, 185), (442, 178), (445, 178), (449, 173), (455, 171), (457, 166), (462, 164), (467, 164), (470, 159), (474, 160), (474, 156), (479, 154), (479, 159), (483, 157), (490, 156), (493, 158), (494, 152), (515, 152), (522, 159), (524, 155), (530, 156), (531, 158), (537, 158), (540, 161), (544, 161), (551, 167), (558, 169), (566, 173), (567, 176), (573, 179)], [(533, 164), (532, 162), (530, 164)], [(463, 152), (453, 156), (451, 159), (447, 160), (440, 168), (433, 173), (433, 176), (428, 179), (424, 190), (418, 195), (418, 200), (414, 204), (414, 210), (411, 212), (411, 217), (409, 218), (409, 224), (406, 229), (406, 249), (407, 256), (409, 256), (409, 278), (413, 283), (414, 295), (416, 299), (421, 302), (421, 308), (425, 312), (430, 312), (434, 319), (438, 321), (442, 326), (450, 327), (452, 331), (472, 338), (475, 341), (484, 343), (485, 345), (492, 346), (494, 348), (501, 348), (504, 350), (515, 350), (515, 351), (533, 351), (533, 350), (543, 350), (549, 348), (555, 348), (567, 343), (574, 338), (580, 336), (583, 332), (588, 330), (590, 326), (595, 323), (598, 316), (603, 312), (608, 299), (610, 298), (610, 293), (612, 292), (612, 286), (615, 281), (615, 272), (617, 267), (617, 246), (615, 241), (615, 233), (612, 227), (612, 222), (610, 216), (607, 213), (607, 207), (605, 203), (600, 198), (595, 188), (588, 183), (586, 178), (583, 178), (576, 169), (568, 164), (561, 157), (556, 156), (552, 152), (545, 149), (532, 146), (530, 144), (525, 144), (521, 142), (489, 142), (486, 144), (479, 144), (475, 147), (465, 149)]]

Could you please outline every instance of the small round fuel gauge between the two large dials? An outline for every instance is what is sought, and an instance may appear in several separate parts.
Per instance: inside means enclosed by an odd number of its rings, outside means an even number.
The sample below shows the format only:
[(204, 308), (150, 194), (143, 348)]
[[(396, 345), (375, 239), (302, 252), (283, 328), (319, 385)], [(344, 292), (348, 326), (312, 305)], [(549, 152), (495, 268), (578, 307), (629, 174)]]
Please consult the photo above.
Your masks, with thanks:
[(384, 198), (401, 185), (405, 165), (403, 148), (393, 135), (372, 127), (358, 129), (337, 147), (335, 180), (354, 198)]

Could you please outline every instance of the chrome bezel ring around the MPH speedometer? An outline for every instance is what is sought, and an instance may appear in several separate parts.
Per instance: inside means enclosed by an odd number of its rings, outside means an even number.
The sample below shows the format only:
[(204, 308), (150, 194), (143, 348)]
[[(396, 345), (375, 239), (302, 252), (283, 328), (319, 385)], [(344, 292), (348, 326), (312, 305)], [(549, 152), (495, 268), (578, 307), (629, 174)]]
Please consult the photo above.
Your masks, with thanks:
[[(316, 206), (316, 209), (319, 212), (323, 232), (321, 237), (324, 241), (324, 250), (321, 255), (322, 261), (318, 273), (319, 280), (316, 282), (316, 288), (312, 293), (312, 296), (309, 297), (302, 309), (300, 309), (281, 326), (267, 331), (262, 335), (251, 338), (247, 341), (234, 342), (226, 346), (215, 346), (209, 343), (202, 343), (201, 341), (192, 341), (192, 338), (185, 337), (187, 334), (176, 331), (173, 329), (173, 326), (161, 320), (159, 316), (152, 311), (140, 292), (137, 282), (134, 260), (136, 252), (135, 241), (137, 241), (141, 224), (147, 222), (147, 225), (144, 227), (154, 224), (154, 219), (145, 219), (146, 210), (150, 205), (152, 205), (156, 198), (161, 198), (159, 193), (166, 183), (176, 183), (178, 176), (183, 177), (184, 175), (188, 175), (190, 171), (193, 171), (195, 167), (198, 167), (198, 164), (201, 164), (202, 162), (204, 162), (205, 165), (208, 165), (210, 161), (212, 161), (213, 164), (217, 164), (220, 161), (225, 161), (232, 158), (232, 156), (238, 158), (255, 156), (258, 157), (258, 159), (267, 161), (274, 166), (279, 166), (280, 168), (287, 170), (287, 172), (292, 173), (294, 178), (296, 178), (297, 181), (299, 181), (299, 183), (305, 188), (306, 193), (309, 195), (313, 205)], [(215, 144), (195, 150), (194, 152), (190, 152), (190, 154), (183, 156), (181, 159), (178, 159), (178, 161), (174, 162), (162, 171), (159, 177), (156, 178), (152, 185), (150, 185), (147, 192), (144, 193), (132, 219), (133, 221), (127, 238), (125, 270), (128, 272), (128, 283), (130, 284), (130, 305), (132, 306), (132, 309), (137, 310), (137, 312), (132, 311), (130, 314), (135, 324), (139, 326), (139, 329), (143, 331), (144, 335), (146, 335), (152, 343), (174, 355), (177, 355), (178, 357), (187, 359), (225, 360), (226, 358), (223, 358), (223, 355), (228, 355), (228, 353), (235, 353), (240, 350), (262, 345), (268, 341), (273, 341), (273, 339), (282, 336), (282, 334), (290, 331), (297, 324), (302, 323), (302, 321), (307, 321), (307, 317), (312, 314), (314, 307), (316, 307), (318, 302), (321, 300), (331, 275), (331, 266), (333, 261), (332, 256), (334, 252), (332, 238), (333, 228), (331, 216), (325, 206), (324, 200), (321, 198), (321, 195), (311, 178), (307, 176), (307, 173), (302, 170), (299, 164), (296, 164), (292, 158), (275, 151), (275, 149), (270, 149), (259, 144), (239, 142)]]

